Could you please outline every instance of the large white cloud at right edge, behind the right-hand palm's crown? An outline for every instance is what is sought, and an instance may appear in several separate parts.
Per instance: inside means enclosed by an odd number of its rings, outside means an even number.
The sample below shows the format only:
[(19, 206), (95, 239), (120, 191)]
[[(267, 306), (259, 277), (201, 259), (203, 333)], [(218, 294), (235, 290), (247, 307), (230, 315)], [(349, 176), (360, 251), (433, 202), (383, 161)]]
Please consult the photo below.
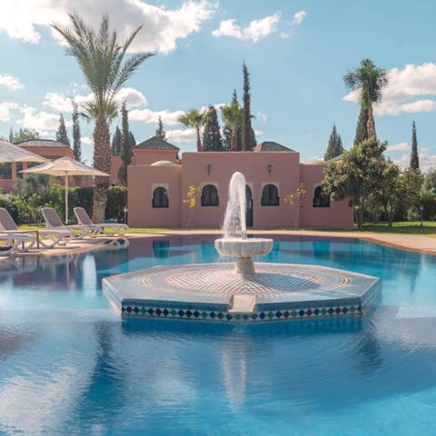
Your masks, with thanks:
[[(374, 105), (374, 114), (400, 115), (436, 110), (436, 64), (406, 64), (404, 68), (388, 71), (389, 82), (382, 92), (380, 104)], [(422, 97), (427, 98), (422, 98)], [(344, 101), (357, 102), (357, 94), (349, 93)]]

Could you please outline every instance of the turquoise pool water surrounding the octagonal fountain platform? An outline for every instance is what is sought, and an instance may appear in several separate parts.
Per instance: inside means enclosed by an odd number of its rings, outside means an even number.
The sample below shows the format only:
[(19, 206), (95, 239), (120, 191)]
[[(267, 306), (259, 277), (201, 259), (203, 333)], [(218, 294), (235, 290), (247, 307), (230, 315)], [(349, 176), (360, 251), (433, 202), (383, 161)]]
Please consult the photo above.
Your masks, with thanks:
[(436, 256), (274, 238), (264, 262), (381, 277), (374, 310), (248, 327), (120, 322), (102, 278), (219, 262), (206, 235), (0, 262), (0, 434), (432, 434)]

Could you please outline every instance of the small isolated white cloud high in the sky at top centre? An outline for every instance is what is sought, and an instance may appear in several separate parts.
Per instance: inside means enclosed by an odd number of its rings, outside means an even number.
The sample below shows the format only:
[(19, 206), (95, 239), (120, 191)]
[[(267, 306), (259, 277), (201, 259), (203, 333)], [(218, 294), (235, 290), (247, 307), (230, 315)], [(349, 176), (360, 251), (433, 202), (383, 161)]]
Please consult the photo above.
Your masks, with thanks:
[(213, 30), (213, 36), (232, 36), (243, 41), (253, 41), (256, 43), (261, 38), (271, 35), (276, 31), (276, 25), (281, 17), (280, 12), (268, 15), (258, 20), (253, 20), (250, 24), (242, 28), (235, 24), (235, 20), (225, 20), (220, 23), (219, 29)]

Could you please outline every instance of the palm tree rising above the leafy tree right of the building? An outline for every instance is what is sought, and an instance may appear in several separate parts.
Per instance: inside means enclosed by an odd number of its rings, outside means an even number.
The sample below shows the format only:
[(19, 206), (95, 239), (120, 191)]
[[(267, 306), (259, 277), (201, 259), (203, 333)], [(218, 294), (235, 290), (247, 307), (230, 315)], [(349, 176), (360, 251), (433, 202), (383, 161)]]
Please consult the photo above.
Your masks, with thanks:
[(368, 137), (375, 136), (372, 104), (381, 101), (381, 89), (388, 83), (388, 74), (382, 68), (377, 68), (371, 59), (362, 59), (358, 68), (343, 76), (343, 81), (348, 88), (357, 92), (362, 108), (368, 110)]

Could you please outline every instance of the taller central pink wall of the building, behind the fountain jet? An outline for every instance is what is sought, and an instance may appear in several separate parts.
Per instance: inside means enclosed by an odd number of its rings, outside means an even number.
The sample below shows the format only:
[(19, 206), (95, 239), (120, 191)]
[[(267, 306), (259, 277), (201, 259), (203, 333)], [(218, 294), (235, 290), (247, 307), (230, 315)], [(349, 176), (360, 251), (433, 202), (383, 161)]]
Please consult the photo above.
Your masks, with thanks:
[[(200, 194), (192, 216), (188, 204), (182, 204), (182, 225), (187, 226), (191, 216), (191, 227), (216, 227), (223, 224), (227, 205), (228, 185), (234, 172), (243, 173), (253, 193), (253, 227), (291, 227), (296, 211), (284, 202), (284, 196), (298, 186), (300, 180), (300, 154), (275, 153), (184, 153), (182, 173), (182, 195), (185, 197), (190, 185), (202, 183), (218, 185), (219, 206), (202, 207)], [(207, 173), (207, 165), (211, 172)], [(268, 164), (272, 165), (271, 174)], [(279, 206), (262, 206), (263, 183), (279, 185)]]

